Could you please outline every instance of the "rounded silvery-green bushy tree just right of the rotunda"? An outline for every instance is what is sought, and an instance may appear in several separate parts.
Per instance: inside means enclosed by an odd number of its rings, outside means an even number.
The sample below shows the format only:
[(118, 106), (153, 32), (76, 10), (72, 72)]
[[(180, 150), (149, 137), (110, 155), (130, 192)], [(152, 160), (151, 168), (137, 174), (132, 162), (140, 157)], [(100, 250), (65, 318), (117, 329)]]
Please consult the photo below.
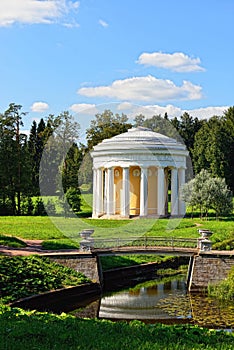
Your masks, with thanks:
[(231, 214), (233, 210), (232, 193), (225, 180), (213, 178), (205, 169), (184, 185), (181, 197), (192, 207), (199, 208), (201, 217), (204, 213), (207, 216), (211, 208), (216, 217)]

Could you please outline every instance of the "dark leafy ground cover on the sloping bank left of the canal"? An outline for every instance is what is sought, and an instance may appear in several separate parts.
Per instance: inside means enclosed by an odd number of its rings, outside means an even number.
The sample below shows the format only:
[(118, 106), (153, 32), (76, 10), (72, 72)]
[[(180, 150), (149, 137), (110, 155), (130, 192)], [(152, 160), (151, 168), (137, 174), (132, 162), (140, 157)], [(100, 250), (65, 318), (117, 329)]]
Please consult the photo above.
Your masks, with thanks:
[(0, 297), (12, 300), (87, 281), (83, 274), (39, 256), (1, 256), (0, 262)]

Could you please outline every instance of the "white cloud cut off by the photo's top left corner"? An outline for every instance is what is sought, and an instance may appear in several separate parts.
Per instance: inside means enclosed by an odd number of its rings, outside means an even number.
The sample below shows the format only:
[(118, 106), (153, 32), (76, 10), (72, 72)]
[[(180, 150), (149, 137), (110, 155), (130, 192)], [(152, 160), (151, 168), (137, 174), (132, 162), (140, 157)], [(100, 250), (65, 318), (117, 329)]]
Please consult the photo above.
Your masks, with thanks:
[(68, 0), (1, 0), (0, 26), (14, 23), (55, 23), (66, 19), (79, 7), (79, 2)]

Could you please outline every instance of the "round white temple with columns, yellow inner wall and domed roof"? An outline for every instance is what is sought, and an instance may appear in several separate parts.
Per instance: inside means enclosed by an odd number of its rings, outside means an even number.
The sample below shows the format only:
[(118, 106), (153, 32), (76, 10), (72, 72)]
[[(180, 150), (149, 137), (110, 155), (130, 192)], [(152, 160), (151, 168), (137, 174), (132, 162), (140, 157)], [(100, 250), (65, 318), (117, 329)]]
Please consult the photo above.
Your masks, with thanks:
[(93, 218), (184, 216), (179, 189), (188, 151), (182, 143), (137, 127), (103, 140), (91, 156)]

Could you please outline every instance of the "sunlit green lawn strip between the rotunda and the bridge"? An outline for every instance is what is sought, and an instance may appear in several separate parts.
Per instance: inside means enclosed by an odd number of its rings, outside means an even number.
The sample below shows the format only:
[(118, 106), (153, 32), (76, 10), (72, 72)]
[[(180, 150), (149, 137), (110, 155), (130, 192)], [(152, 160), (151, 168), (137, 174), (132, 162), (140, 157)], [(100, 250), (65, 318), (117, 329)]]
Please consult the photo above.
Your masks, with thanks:
[[(133, 219), (133, 220), (104, 220), (88, 218), (63, 218), (63, 217), (43, 217), (43, 216), (0, 216), (0, 235), (13, 236), (23, 239), (41, 239), (54, 242), (54, 246), (61, 245), (67, 248), (71, 246), (72, 241), (78, 246), (80, 241), (80, 232), (83, 229), (93, 228), (94, 238), (126, 238), (159, 236), (175, 238), (198, 238), (198, 229), (210, 229), (213, 232), (211, 240), (217, 244), (225, 241), (226, 245), (220, 249), (232, 249), (234, 240), (234, 221), (215, 219)], [(13, 242), (13, 241), (12, 241)], [(10, 244), (10, 240), (8, 241)], [(48, 246), (47, 246), (48, 247)], [(49, 248), (46, 248), (49, 249)], [(57, 249), (57, 248), (56, 248)]]

